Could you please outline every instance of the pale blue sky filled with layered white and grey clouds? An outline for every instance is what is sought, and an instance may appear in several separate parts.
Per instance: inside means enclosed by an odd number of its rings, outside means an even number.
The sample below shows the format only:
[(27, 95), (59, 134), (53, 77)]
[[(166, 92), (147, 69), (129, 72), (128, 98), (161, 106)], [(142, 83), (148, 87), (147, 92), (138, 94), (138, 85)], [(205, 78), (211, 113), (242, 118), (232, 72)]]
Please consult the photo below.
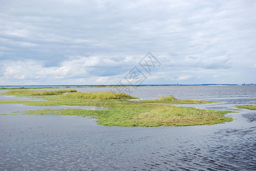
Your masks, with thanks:
[(0, 86), (242, 84), (255, 75), (255, 0), (0, 0)]

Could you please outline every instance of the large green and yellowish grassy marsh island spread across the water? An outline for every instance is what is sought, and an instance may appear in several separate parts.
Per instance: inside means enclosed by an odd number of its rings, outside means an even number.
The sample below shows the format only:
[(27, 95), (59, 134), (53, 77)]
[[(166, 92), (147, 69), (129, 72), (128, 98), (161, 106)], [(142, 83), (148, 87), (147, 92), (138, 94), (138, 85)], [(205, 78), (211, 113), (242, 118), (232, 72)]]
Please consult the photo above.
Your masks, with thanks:
[[(75, 90), (31, 91), (10, 90), (1, 95), (39, 97), (44, 101), (0, 100), (0, 104), (25, 104), (35, 106), (79, 105), (94, 106), (86, 109), (43, 109), (17, 111), (27, 115), (78, 115), (97, 119), (98, 124), (121, 127), (159, 127), (212, 125), (232, 121), (225, 114), (230, 111), (214, 111), (193, 107), (177, 107), (171, 104), (205, 104), (217, 101), (182, 100), (173, 96), (154, 100), (136, 100), (136, 97), (118, 92), (77, 92)], [(101, 109), (99, 109), (101, 108)]]

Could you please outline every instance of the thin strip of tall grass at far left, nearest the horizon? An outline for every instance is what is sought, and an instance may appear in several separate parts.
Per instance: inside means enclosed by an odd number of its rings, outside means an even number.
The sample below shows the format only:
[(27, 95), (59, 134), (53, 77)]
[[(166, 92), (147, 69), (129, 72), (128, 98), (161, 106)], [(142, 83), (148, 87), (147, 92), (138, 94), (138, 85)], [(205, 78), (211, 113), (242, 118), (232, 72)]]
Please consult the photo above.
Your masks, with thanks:
[(1, 93), (1, 95), (9, 95), (9, 96), (54, 96), (54, 95), (62, 95), (67, 92), (77, 92), (76, 90), (58, 90), (58, 91), (32, 91), (32, 90), (10, 90), (5, 93)]

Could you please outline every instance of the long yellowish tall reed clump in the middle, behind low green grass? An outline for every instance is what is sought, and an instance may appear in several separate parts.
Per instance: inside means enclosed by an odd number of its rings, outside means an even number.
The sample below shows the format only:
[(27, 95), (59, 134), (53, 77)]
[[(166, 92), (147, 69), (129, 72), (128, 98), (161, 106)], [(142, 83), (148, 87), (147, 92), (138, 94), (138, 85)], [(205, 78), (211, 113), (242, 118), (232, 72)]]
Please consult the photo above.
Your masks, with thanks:
[(66, 95), (61, 95), (61, 99), (98, 99), (98, 100), (109, 100), (109, 99), (119, 99), (119, 100), (130, 100), (136, 99), (136, 97), (129, 96), (125, 93), (120, 92), (75, 92)]

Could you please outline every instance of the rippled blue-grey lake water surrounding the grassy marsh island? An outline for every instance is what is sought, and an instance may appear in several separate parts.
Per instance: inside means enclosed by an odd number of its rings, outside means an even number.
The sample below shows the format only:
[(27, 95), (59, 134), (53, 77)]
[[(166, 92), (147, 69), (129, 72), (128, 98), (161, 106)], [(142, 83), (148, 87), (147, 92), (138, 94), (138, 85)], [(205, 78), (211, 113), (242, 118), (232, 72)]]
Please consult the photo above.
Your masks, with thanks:
[[(131, 87), (131, 91), (145, 100), (174, 95), (222, 101), (183, 105), (205, 109), (256, 104), (255, 86)], [(7, 112), (39, 109), (17, 104), (3, 108)], [(0, 115), (0, 170), (255, 170), (256, 111), (242, 109), (228, 115), (235, 120), (157, 128), (104, 127), (78, 116)]]

